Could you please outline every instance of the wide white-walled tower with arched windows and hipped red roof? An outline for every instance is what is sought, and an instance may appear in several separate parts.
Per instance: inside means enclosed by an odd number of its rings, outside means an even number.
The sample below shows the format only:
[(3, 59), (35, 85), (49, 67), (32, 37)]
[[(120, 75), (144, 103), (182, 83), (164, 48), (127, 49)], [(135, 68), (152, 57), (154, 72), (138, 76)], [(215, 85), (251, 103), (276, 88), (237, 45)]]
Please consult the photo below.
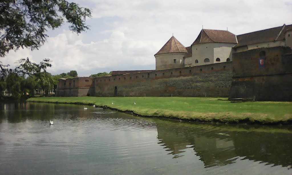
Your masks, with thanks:
[[(185, 56), (185, 67), (232, 61), (237, 37), (226, 30), (202, 29)], [(190, 49), (189, 49), (190, 52)]]

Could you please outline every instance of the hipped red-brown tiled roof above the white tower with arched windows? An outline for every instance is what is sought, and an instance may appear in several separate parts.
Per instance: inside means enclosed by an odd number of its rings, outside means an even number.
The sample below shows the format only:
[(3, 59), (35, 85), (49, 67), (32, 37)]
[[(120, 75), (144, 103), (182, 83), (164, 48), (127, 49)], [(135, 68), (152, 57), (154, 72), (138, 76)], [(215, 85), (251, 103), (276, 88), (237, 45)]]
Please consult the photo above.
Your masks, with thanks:
[(202, 29), (197, 39), (192, 43), (237, 43), (236, 35), (227, 30)]

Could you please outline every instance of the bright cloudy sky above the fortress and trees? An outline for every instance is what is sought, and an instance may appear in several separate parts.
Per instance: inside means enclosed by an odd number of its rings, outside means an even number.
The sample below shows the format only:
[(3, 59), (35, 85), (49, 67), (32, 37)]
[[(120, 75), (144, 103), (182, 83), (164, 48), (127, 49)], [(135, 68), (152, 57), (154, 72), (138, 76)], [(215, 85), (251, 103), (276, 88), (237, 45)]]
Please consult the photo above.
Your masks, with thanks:
[(89, 76), (112, 70), (155, 69), (154, 54), (172, 36), (185, 47), (204, 29), (228, 30), (236, 35), (292, 24), (291, 0), (74, 0), (91, 8), (90, 30), (80, 35), (68, 25), (48, 31), (39, 50), (11, 51), (1, 58), (13, 67), (16, 60), (50, 58), (48, 71), (76, 70)]

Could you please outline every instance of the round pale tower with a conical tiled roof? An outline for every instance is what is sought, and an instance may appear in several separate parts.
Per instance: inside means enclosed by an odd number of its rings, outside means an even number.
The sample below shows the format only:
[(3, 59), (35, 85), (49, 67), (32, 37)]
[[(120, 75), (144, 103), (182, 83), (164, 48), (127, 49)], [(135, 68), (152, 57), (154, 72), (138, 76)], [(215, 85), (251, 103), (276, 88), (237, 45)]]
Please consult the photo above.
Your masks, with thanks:
[(183, 56), (187, 49), (174, 36), (154, 55), (156, 70), (184, 67)]

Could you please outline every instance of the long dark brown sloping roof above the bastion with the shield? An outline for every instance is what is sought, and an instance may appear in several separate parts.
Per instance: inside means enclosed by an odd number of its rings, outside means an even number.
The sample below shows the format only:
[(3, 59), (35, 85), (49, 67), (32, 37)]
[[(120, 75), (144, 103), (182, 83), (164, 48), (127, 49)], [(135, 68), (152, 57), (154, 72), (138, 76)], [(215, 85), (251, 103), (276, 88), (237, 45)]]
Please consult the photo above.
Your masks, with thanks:
[(285, 39), (285, 32), (289, 29), (292, 29), (292, 24), (284, 24), (283, 26), (279, 27), (237, 35), (238, 44), (235, 47), (246, 46), (249, 44), (266, 43), (271, 41), (281, 41)]

